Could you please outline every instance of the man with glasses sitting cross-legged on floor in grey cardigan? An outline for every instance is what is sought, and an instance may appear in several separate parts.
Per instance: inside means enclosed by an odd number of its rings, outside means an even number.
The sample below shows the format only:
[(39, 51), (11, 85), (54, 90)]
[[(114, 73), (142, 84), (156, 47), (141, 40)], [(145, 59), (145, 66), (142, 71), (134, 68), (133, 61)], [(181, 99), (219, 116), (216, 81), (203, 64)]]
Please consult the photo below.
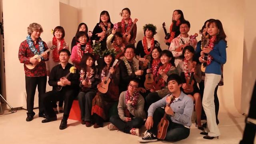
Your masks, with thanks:
[(118, 115), (110, 117), (109, 130), (120, 130), (127, 134), (140, 136), (140, 127), (146, 114), (144, 112), (144, 98), (138, 91), (140, 80), (134, 78), (130, 81), (127, 91), (120, 94), (118, 102)]

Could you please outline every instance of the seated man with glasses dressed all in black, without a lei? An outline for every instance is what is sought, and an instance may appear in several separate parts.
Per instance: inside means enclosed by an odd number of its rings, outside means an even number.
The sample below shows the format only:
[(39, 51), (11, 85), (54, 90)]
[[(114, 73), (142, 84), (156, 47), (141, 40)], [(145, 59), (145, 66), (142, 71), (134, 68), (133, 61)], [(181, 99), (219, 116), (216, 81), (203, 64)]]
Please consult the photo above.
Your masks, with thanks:
[[(42, 97), (46, 115), (46, 119), (42, 120), (42, 123), (57, 120), (52, 105), (56, 104), (56, 101), (64, 100), (64, 113), (60, 130), (67, 127), (68, 116), (79, 82), (77, 71), (68, 62), (70, 55), (70, 51), (67, 49), (59, 51), (60, 64), (52, 68), (48, 81), (49, 85), (53, 87), (52, 91), (46, 92)], [(62, 86), (61, 89), (60, 86)]]

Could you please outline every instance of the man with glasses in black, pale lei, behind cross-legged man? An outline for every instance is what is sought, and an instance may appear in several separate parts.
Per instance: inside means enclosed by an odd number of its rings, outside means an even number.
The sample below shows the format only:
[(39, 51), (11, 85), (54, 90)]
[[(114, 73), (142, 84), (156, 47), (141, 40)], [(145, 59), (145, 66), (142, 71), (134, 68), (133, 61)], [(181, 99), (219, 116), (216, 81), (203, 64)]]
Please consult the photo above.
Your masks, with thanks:
[(124, 49), (124, 56), (120, 58), (120, 85), (119, 93), (127, 90), (127, 86), (133, 78), (141, 76), (143, 70), (138, 70), (136, 68), (136, 63), (133, 60), (135, 56), (135, 47), (133, 45), (126, 45)]

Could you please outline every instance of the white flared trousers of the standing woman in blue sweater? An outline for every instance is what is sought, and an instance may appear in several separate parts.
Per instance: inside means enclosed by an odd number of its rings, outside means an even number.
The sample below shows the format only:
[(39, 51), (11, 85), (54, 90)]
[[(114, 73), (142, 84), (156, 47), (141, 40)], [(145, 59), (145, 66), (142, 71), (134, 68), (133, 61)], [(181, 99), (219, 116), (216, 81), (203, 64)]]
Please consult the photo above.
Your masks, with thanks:
[(220, 78), (221, 75), (218, 74), (205, 74), (202, 105), (207, 118), (208, 136), (220, 135), (220, 131), (216, 123), (214, 106), (214, 90), (220, 82)]

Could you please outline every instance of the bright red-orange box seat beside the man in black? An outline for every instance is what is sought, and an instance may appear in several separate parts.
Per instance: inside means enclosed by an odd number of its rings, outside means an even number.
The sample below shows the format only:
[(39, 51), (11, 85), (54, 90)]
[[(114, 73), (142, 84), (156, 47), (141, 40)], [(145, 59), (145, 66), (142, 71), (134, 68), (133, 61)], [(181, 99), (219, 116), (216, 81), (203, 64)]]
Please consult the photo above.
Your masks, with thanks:
[(80, 111), (80, 107), (79, 107), (79, 104), (78, 104), (78, 100), (73, 101), (68, 119), (78, 120), (80, 122), (82, 121), (81, 120), (81, 111)]

